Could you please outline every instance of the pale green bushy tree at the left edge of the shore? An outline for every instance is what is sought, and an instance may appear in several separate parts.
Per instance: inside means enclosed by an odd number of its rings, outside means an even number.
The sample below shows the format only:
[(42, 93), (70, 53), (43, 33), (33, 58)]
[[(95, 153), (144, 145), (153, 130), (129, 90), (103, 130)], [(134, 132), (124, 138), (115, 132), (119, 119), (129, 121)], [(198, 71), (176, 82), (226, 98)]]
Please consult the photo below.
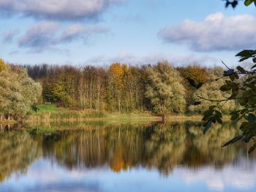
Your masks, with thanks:
[(0, 72), (0, 116), (1, 120), (25, 118), (31, 105), (37, 104), (42, 88), (31, 80), (26, 69), (13, 66)]

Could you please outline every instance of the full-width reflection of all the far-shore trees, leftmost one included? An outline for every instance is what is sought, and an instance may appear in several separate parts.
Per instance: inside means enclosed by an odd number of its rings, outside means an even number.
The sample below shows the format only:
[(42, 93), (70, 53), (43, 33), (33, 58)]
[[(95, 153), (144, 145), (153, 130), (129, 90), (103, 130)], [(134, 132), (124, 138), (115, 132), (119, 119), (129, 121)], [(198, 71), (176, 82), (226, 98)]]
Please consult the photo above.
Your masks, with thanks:
[(76, 126), (59, 125), (59, 130), (50, 134), (39, 129), (1, 131), (0, 182), (14, 172), (26, 172), (37, 158), (48, 158), (66, 169), (109, 167), (113, 172), (120, 172), (146, 167), (168, 175), (177, 166), (222, 169), (246, 155), (246, 148), (239, 143), (221, 148), (223, 142), (238, 134), (238, 129), (229, 123), (211, 128), (206, 135), (200, 124), (191, 122), (86, 124), (78, 125), (75, 130), (70, 127)]

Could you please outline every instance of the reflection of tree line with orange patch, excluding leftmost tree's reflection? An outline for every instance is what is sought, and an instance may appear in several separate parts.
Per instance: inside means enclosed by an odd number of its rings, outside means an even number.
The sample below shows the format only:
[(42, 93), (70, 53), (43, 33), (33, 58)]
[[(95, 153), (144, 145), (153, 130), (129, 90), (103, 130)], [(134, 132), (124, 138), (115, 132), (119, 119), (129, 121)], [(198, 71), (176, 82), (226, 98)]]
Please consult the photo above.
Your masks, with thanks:
[[(221, 169), (245, 153), (244, 146), (220, 146), (236, 135), (229, 124), (203, 135), (195, 123), (106, 126), (42, 138), (43, 154), (68, 169), (110, 166), (114, 172), (143, 166), (171, 174), (179, 165)], [(53, 140), (54, 142), (51, 142)]]

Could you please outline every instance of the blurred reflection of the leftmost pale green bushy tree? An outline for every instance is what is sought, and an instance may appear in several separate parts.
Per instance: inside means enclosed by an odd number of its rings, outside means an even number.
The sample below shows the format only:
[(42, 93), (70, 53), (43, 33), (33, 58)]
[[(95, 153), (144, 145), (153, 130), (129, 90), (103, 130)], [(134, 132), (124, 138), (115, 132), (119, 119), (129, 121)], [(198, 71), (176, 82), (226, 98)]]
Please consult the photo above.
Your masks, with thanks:
[(42, 156), (39, 140), (26, 131), (0, 131), (0, 183), (15, 172), (23, 174), (37, 158)]

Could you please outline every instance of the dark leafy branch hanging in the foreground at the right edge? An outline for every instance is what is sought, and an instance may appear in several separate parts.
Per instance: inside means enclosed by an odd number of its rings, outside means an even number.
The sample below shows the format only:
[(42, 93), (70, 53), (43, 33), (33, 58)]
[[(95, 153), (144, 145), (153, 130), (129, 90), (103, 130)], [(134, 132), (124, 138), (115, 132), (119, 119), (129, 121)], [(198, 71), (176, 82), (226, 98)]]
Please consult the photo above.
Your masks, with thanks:
[[(230, 69), (227, 67), (228, 70), (222, 75), (222, 78), (226, 78), (227, 80), (225, 80), (225, 85), (222, 85), (219, 90), (230, 94), (230, 97), (220, 100), (207, 99), (202, 96), (197, 97), (206, 101), (218, 102), (217, 105), (212, 105), (203, 113), (203, 121), (205, 122), (203, 124), (204, 134), (206, 134), (206, 131), (211, 128), (212, 124), (222, 123), (222, 112), (221, 109), (218, 109), (219, 103), (230, 100), (238, 101), (241, 106), (241, 110), (230, 112), (230, 120), (236, 122), (242, 120), (240, 126), (242, 134), (230, 139), (230, 141), (226, 142), (222, 147), (240, 140), (243, 142), (253, 141), (254, 143), (249, 148), (249, 153), (251, 153), (256, 148), (256, 50), (243, 50), (236, 56), (240, 58), (240, 62), (252, 58), (254, 64), (250, 70), (246, 70), (242, 66), (237, 66), (236, 69)], [(242, 77), (239, 77), (241, 74)], [(199, 102), (197, 102), (197, 104), (198, 103)]]

